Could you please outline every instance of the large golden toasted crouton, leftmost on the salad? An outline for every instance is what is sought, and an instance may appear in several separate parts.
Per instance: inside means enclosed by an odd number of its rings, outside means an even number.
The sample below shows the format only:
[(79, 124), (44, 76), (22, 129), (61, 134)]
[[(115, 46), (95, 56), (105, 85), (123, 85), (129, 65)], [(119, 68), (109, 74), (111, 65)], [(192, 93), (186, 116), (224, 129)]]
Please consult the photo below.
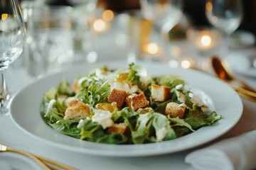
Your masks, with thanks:
[(65, 120), (80, 120), (85, 119), (90, 115), (90, 106), (82, 103), (82, 101), (73, 100), (67, 104), (68, 108), (65, 111)]

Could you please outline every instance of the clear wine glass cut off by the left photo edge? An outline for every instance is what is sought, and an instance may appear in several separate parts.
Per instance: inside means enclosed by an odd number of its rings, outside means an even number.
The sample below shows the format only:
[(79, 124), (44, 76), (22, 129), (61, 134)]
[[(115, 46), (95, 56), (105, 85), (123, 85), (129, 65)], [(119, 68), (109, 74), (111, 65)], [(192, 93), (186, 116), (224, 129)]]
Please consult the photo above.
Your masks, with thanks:
[(26, 28), (18, 0), (1, 0), (0, 17), (0, 115), (8, 115), (11, 94), (6, 86), (5, 71), (23, 52)]

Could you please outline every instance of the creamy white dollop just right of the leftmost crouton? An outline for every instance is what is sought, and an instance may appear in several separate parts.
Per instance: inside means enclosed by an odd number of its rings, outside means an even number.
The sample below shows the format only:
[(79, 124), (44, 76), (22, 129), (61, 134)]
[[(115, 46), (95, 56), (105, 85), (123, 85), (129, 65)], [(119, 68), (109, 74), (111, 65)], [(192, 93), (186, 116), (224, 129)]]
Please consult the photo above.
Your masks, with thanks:
[(112, 114), (110, 111), (95, 110), (95, 114), (92, 116), (92, 122), (99, 123), (105, 129), (114, 124), (111, 117)]

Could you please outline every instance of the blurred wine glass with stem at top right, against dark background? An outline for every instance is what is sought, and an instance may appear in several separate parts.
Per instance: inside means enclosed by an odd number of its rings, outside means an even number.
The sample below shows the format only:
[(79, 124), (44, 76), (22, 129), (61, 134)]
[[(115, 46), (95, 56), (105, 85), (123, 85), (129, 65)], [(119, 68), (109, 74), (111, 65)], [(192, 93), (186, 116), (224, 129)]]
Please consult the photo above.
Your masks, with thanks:
[(242, 22), (242, 2), (240, 0), (207, 0), (206, 17), (220, 30), (220, 57), (228, 55), (228, 38)]

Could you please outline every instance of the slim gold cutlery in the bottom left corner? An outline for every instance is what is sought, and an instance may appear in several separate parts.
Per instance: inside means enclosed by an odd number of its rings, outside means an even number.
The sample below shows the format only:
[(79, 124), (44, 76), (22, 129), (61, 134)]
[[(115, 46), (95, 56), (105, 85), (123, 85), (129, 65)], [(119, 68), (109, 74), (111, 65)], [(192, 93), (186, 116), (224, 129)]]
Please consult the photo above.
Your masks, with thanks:
[[(41, 157), (38, 156), (36, 154), (31, 154), (29, 152), (25, 152), (23, 150), (20, 149), (14, 149), (11, 147), (6, 147), (5, 145), (1, 145), (0, 144), (0, 152), (15, 152), (18, 154), (23, 154), (26, 157), (29, 157), (31, 159), (33, 159), (33, 161), (35, 161), (37, 164), (39, 164), (43, 169), (47, 169), (47, 170), (54, 170), (55, 168), (53, 166), (57, 166), (58, 168), (61, 169), (66, 169), (66, 170), (74, 170), (75, 168), (65, 165), (65, 164), (60, 164), (59, 162), (55, 162), (51, 159), (47, 159), (45, 157)], [(53, 166), (50, 166), (53, 165)]]

